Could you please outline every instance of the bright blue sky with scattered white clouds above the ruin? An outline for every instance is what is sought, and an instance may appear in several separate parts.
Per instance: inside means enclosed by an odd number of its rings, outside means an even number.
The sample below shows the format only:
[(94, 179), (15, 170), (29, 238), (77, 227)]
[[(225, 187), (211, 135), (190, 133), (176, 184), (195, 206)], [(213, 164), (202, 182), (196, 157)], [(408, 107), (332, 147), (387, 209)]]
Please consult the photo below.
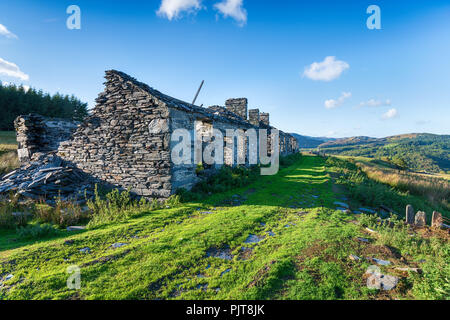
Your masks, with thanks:
[[(66, 27), (73, 4), (80, 30)], [(247, 97), (313, 136), (450, 134), (449, 57), (448, 0), (0, 2), (3, 82), (92, 107), (107, 69), (186, 101), (205, 80), (197, 104)]]

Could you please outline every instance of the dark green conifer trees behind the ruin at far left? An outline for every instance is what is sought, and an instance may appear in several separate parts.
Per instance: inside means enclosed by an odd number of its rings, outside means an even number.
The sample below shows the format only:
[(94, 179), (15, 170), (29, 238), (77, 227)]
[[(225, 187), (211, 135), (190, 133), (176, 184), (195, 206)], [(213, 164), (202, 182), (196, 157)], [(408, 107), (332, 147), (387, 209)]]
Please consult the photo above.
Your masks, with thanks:
[(88, 114), (88, 109), (87, 103), (81, 102), (73, 95), (50, 95), (42, 90), (25, 90), (22, 86), (5, 86), (0, 82), (0, 130), (14, 130), (14, 119), (30, 113), (82, 120)]

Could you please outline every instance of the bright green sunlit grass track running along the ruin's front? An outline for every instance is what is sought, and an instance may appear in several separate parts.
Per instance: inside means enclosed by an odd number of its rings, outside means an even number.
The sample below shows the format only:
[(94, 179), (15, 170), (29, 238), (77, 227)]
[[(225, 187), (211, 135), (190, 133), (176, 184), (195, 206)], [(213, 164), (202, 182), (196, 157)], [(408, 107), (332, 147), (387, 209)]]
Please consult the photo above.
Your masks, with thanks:
[[(367, 235), (354, 215), (334, 210), (337, 195), (325, 164), (305, 156), (276, 176), (258, 177), (201, 203), (144, 211), (124, 222), (60, 231), (35, 242), (2, 231), (0, 278), (14, 277), (3, 284), (0, 299), (384, 298), (386, 293), (365, 285), (369, 263), (347, 258), (366, 250), (356, 237), (380, 246), (390, 241), (408, 263), (426, 259), (429, 264), (428, 278), (403, 276), (390, 297), (445, 297), (442, 276), (448, 279), (448, 268), (436, 271), (433, 262), (442, 266), (448, 259), (448, 243), (402, 230), (384, 237), (390, 231), (383, 227), (379, 236)], [(233, 202), (240, 205), (230, 206)], [(246, 244), (249, 235), (263, 240)], [(420, 250), (411, 251), (411, 241), (420, 241)], [(127, 245), (111, 247), (119, 242)], [(86, 247), (90, 253), (80, 252)], [(208, 257), (212, 248), (228, 248), (233, 258)], [(80, 290), (66, 286), (72, 265), (81, 268)], [(434, 285), (444, 293), (432, 293)]]

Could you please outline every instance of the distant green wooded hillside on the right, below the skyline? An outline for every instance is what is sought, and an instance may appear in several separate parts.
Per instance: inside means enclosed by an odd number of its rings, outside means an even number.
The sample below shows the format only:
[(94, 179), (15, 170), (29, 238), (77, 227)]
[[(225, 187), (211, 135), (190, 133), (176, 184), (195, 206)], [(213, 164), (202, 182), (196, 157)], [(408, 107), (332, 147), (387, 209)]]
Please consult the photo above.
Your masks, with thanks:
[(450, 172), (450, 136), (409, 134), (387, 138), (353, 137), (318, 146), (327, 154), (383, 159), (416, 172)]

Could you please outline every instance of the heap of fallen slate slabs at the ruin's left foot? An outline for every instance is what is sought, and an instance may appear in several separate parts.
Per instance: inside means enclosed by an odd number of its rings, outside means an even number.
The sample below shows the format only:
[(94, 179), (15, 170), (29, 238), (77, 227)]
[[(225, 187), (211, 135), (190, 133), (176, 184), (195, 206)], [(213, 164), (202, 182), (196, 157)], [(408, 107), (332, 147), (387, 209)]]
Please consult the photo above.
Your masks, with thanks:
[(24, 197), (54, 204), (85, 202), (93, 196), (93, 179), (54, 154), (35, 153), (30, 162), (0, 180), (0, 193), (14, 192)]

